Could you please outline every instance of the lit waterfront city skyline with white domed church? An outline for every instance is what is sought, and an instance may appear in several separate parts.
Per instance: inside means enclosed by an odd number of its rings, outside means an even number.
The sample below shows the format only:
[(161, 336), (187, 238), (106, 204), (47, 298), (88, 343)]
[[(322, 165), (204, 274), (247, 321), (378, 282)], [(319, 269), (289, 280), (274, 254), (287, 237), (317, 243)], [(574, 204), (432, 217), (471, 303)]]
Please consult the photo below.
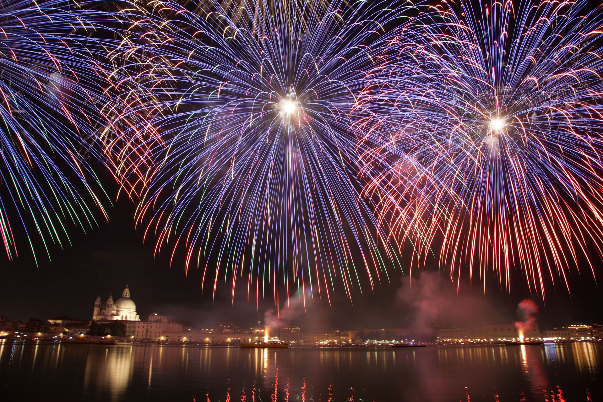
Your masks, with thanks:
[[(0, 337), (72, 339), (74, 336), (101, 339), (99, 336), (113, 336), (127, 342), (186, 342), (197, 344), (231, 344), (248, 342), (285, 342), (285, 344), (367, 344), (370, 342), (523, 342), (535, 340), (548, 341), (590, 341), (601, 340), (603, 325), (590, 322), (572, 322), (558, 327), (538, 325), (538, 307), (530, 299), (522, 300), (517, 306), (517, 318), (514, 321), (487, 319), (466, 321), (463, 325), (443, 325), (438, 317), (434, 322), (421, 320), (406, 327), (382, 325), (377, 328), (308, 328), (296, 326), (285, 317), (272, 315), (270, 311), (263, 320), (245, 327), (226, 321), (219, 325), (207, 321), (196, 325), (183, 325), (172, 321), (162, 312), (137, 314), (137, 307), (130, 297), (128, 286), (119, 298), (112, 294), (103, 303), (99, 295), (87, 319), (61, 315), (46, 319), (30, 318), (18, 321), (0, 315)], [(285, 315), (286, 313), (283, 313)], [(90, 319), (91, 318), (91, 319)], [(385, 328), (384, 328), (385, 327)], [(84, 339), (84, 338), (81, 338)], [(103, 337), (104, 339), (104, 337)]]

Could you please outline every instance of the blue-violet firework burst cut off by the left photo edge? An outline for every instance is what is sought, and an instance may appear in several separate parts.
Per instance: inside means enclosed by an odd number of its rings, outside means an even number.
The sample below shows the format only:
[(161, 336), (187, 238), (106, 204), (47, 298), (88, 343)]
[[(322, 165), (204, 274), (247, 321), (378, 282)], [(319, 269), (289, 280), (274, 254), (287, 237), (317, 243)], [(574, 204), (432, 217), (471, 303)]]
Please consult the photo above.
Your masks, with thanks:
[(37, 261), (36, 248), (64, 247), (70, 227), (106, 218), (89, 162), (99, 157), (93, 71), (102, 46), (89, 39), (95, 27), (82, 5), (0, 4), (0, 236), (9, 260), (25, 247)]

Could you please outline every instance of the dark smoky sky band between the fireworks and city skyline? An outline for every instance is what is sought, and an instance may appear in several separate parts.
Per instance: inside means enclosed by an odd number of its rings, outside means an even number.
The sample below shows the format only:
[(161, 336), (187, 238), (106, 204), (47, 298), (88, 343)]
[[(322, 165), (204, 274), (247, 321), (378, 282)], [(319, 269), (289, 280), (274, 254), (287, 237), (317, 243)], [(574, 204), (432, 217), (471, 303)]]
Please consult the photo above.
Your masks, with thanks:
[[(64, 251), (51, 250), (52, 262), (40, 258), (36, 268), (30, 256), (21, 256), (8, 262), (0, 259), (0, 315), (13, 319), (29, 317), (51, 318), (68, 315), (90, 319), (97, 295), (106, 300), (110, 292), (114, 298), (121, 295), (125, 284), (130, 285), (131, 297), (139, 313), (166, 313), (189, 325), (206, 327), (233, 322), (253, 325), (274, 307), (273, 300), (247, 303), (244, 289), (236, 293), (235, 302), (229, 291), (218, 287), (215, 299), (211, 292), (202, 292), (200, 275), (196, 270), (185, 275), (181, 266), (169, 267), (165, 256), (153, 256), (153, 243), (145, 245), (142, 236), (133, 227), (134, 205), (126, 199), (109, 209), (110, 223), (103, 222), (88, 236), (72, 231), (74, 245)], [(596, 267), (601, 272), (600, 267)], [(484, 289), (478, 281), (465, 286), (456, 294), (452, 283), (443, 275), (421, 277), (414, 271), (408, 285), (408, 276), (390, 272), (391, 283), (377, 284), (374, 292), (364, 289), (356, 292), (353, 303), (343, 289), (331, 297), (315, 302), (306, 300), (304, 312), (292, 297), (292, 311), (283, 311), (282, 322), (306, 328), (401, 327), (414, 325), (421, 308), (428, 314), (435, 312), (437, 324), (462, 325), (467, 321), (512, 320), (516, 318), (517, 303), (532, 298), (540, 306), (539, 322), (543, 326), (563, 325), (569, 321), (602, 322), (603, 297), (587, 269), (581, 276), (570, 278), (571, 295), (564, 286), (557, 290), (549, 286), (546, 303), (538, 295), (530, 294), (517, 275), (511, 292), (500, 289), (491, 279)], [(429, 281), (428, 281), (429, 280)], [(408, 292), (411, 292), (410, 294)], [(440, 316), (440, 318), (435, 318)], [(455, 322), (440, 322), (441, 316), (453, 317)]]

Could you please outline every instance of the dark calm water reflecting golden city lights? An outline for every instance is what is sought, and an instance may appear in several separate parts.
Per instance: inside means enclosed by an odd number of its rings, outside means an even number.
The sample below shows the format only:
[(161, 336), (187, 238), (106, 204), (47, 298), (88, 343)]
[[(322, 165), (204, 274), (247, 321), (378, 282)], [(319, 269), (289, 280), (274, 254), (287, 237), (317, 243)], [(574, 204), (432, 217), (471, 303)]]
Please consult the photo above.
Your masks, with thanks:
[(603, 401), (603, 345), (289, 348), (0, 340), (0, 400)]

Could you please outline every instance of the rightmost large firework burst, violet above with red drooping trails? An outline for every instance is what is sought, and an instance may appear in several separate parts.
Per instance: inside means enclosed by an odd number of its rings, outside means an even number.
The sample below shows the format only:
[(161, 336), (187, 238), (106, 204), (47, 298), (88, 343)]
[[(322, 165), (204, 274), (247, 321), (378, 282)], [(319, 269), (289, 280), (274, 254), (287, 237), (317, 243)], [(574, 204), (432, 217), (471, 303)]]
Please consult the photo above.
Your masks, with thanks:
[[(365, 196), (418, 259), (544, 295), (601, 254), (601, 9), (586, 1), (442, 2), (399, 30), (357, 122)], [(589, 253), (590, 250), (590, 253)], [(593, 272), (594, 274), (594, 272)]]

